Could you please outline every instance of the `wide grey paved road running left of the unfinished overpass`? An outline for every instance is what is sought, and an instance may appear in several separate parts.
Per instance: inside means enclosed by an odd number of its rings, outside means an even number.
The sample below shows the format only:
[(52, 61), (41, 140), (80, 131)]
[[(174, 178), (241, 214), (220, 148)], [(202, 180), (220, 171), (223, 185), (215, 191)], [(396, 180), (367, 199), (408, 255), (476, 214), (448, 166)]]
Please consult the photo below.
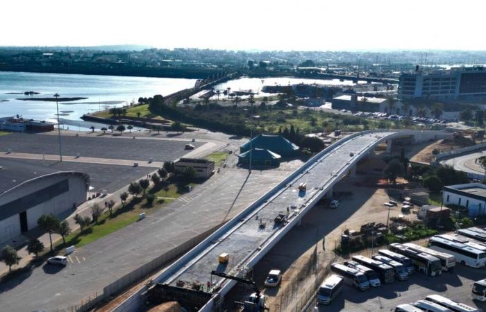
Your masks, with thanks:
[(247, 173), (223, 169), (181, 200), (76, 250), (66, 268), (42, 265), (1, 284), (0, 310), (70, 311), (70, 306), (112, 281), (231, 218), (288, 174), (253, 171), (244, 184)]

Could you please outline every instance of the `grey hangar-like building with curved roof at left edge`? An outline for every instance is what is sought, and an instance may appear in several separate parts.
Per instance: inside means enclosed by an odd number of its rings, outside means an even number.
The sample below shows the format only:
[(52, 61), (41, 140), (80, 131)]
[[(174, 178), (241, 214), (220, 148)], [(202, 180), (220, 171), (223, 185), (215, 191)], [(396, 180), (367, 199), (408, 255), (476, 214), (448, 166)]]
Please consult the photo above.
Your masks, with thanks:
[(90, 177), (0, 159), (0, 245), (37, 227), (42, 214), (62, 217), (86, 200)]

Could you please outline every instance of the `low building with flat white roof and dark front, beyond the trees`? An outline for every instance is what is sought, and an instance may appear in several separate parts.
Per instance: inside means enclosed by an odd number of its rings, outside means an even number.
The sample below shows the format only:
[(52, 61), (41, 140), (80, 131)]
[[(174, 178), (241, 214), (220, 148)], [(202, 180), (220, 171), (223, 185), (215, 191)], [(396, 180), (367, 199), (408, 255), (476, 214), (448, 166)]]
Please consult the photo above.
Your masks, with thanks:
[(385, 112), (388, 101), (386, 98), (371, 98), (356, 94), (337, 96), (333, 98), (333, 110), (351, 110), (353, 112)]

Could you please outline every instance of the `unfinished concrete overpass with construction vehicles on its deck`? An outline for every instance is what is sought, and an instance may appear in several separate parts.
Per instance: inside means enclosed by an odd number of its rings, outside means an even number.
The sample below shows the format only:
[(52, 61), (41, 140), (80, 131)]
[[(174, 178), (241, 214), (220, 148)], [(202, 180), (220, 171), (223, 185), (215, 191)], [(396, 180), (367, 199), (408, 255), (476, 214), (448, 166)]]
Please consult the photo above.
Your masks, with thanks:
[[(321, 198), (332, 195), (333, 186), (342, 177), (355, 175), (356, 164), (373, 153), (378, 144), (387, 141), (391, 148), (396, 139), (417, 144), (449, 135), (439, 131), (378, 130), (358, 132), (337, 141), (163, 270), (155, 278), (157, 286), (162, 286), (168, 298), (192, 297), (199, 300), (199, 311), (212, 311), (236, 282), (211, 276), (211, 271), (243, 277), (292, 227), (300, 224)], [(307, 185), (305, 192), (298, 189), (301, 183)], [(274, 222), (278, 214), (287, 215), (285, 222)], [(230, 255), (226, 265), (218, 262), (223, 253)], [(206, 286), (208, 281), (212, 281), (209, 292), (191, 289), (194, 282)], [(144, 286), (114, 311), (137, 311), (146, 302), (147, 290)]]

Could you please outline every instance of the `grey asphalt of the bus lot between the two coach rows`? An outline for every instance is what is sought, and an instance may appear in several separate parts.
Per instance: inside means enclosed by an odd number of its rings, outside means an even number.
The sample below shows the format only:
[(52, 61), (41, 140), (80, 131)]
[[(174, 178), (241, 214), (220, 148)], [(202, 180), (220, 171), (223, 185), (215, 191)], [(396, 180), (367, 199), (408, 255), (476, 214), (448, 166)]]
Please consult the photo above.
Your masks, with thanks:
[[(439, 277), (415, 273), (407, 281), (394, 281), (369, 291), (358, 291), (344, 286), (341, 295), (328, 306), (319, 305), (319, 311), (390, 311), (399, 304), (416, 302), (432, 294), (442, 295), (483, 311), (486, 302), (471, 299), (471, 285), (485, 277), (485, 268), (458, 265), (453, 273), (442, 272)], [(308, 311), (313, 311), (314, 307), (315, 301), (310, 304)]]

